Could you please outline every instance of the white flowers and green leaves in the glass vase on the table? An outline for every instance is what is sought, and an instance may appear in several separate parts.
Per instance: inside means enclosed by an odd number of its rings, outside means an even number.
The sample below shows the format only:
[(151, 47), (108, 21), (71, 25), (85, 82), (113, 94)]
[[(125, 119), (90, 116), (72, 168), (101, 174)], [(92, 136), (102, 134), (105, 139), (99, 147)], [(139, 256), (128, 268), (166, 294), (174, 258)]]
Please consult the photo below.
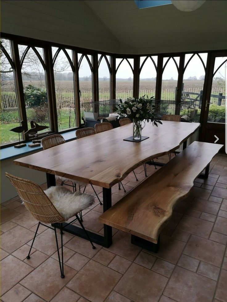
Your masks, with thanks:
[(126, 101), (122, 102), (120, 99), (120, 104), (117, 104), (117, 112), (119, 115), (128, 117), (129, 119), (137, 119), (140, 121), (146, 120), (147, 122), (151, 121), (151, 123), (158, 127), (158, 124), (162, 124), (157, 117), (157, 113), (155, 111), (154, 105), (154, 97), (150, 99), (147, 96), (145, 99), (145, 95), (140, 97), (139, 99), (129, 98)]

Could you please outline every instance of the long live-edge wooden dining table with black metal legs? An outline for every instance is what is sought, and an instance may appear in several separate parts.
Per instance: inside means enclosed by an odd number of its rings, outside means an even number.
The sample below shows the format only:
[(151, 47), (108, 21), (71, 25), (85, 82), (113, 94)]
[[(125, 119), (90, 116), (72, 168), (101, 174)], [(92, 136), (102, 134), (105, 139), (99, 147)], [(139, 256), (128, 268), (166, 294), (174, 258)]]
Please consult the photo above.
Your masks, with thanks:
[[(185, 148), (187, 139), (200, 127), (199, 123), (162, 123), (155, 127), (146, 122), (142, 135), (149, 138), (141, 142), (123, 140), (133, 132), (132, 124), (127, 124), (16, 159), (14, 163), (45, 172), (48, 187), (56, 185), (55, 175), (102, 187), (105, 212), (112, 205), (111, 187), (151, 159), (169, 154), (182, 143)], [(65, 230), (87, 239), (80, 227), (68, 225)], [(106, 248), (112, 244), (110, 226), (104, 224), (104, 236), (88, 233), (96, 244)]]

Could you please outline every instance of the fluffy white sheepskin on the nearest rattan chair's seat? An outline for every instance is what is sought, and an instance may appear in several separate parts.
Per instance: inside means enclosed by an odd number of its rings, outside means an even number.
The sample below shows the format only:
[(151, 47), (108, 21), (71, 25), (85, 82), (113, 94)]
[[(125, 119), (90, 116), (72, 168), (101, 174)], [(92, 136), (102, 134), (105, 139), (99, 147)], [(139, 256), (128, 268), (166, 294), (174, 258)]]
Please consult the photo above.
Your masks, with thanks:
[(72, 193), (62, 186), (49, 187), (44, 192), (66, 220), (94, 203), (93, 195), (80, 191)]

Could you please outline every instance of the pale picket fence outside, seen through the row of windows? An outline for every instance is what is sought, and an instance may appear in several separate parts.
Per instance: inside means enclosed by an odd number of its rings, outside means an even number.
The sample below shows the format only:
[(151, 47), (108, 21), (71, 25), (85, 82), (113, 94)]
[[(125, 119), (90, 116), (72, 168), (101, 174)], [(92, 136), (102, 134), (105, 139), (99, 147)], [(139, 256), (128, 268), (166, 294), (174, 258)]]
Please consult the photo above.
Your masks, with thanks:
[[(184, 89), (184, 93), (198, 93), (200, 94), (203, 87), (191, 87)], [(80, 102), (92, 102), (93, 96), (92, 91), (80, 91)], [(161, 91), (161, 99), (171, 101), (175, 100), (175, 87), (174, 88), (163, 88)], [(182, 92), (183, 93), (183, 92)], [(217, 105), (225, 105), (225, 89), (220, 87), (213, 87), (211, 90), (210, 102)], [(155, 89), (140, 89), (139, 96), (148, 95), (148, 97), (155, 96)], [(116, 99), (127, 99), (133, 96), (132, 90), (122, 90), (116, 91)], [(108, 100), (110, 99), (110, 91), (100, 90), (99, 91), (99, 100)], [(75, 106), (75, 96), (74, 91), (57, 91), (56, 92), (56, 105), (57, 108), (74, 108)], [(8, 108), (17, 108), (17, 97), (15, 92), (1, 92), (1, 109)]]

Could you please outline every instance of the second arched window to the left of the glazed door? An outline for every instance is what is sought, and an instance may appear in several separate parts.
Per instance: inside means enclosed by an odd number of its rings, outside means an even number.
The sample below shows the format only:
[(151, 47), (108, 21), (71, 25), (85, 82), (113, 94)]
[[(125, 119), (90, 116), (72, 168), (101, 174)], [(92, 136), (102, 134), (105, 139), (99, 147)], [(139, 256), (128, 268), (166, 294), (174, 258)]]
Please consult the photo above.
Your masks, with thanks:
[(180, 57), (163, 58), (161, 100), (174, 101)]

